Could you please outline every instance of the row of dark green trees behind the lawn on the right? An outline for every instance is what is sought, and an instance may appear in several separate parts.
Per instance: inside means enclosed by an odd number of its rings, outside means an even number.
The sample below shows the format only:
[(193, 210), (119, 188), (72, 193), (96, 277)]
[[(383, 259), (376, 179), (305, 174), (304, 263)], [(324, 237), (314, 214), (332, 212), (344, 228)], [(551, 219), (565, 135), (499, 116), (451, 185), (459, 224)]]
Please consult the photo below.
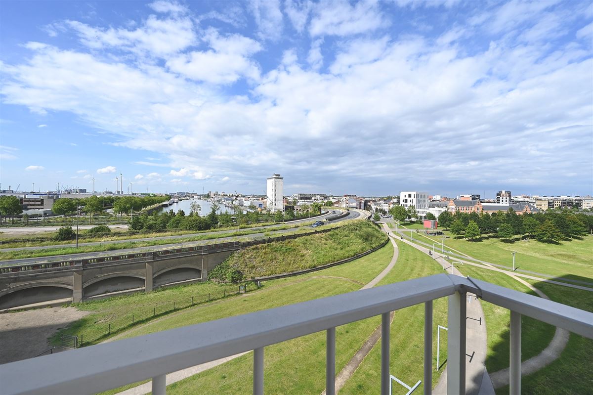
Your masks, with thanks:
[(456, 237), (464, 235), (473, 241), (482, 235), (497, 235), (512, 240), (516, 235), (534, 237), (546, 243), (578, 238), (593, 231), (593, 216), (570, 210), (518, 215), (512, 208), (508, 211), (478, 214), (445, 211), (439, 215), (439, 225), (449, 228)]

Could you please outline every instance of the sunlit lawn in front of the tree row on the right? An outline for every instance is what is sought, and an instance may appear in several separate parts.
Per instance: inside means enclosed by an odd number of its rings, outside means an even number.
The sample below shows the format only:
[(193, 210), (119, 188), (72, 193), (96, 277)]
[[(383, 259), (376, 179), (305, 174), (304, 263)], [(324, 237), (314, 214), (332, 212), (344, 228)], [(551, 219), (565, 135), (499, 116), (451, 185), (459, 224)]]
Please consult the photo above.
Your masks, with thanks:
[[(593, 283), (593, 236), (582, 239), (561, 241), (559, 244), (541, 243), (537, 240), (523, 241), (515, 239), (508, 243), (499, 238), (483, 238), (482, 241), (468, 241), (454, 238), (449, 231), (444, 231), (449, 238), (445, 239), (445, 249), (455, 249), (469, 256), (490, 263), (512, 267), (512, 252), (517, 251), (515, 265), (519, 269), (544, 273), (551, 276), (588, 281)], [(416, 234), (414, 235), (416, 238)], [(418, 235), (420, 237), (420, 235)], [(434, 243), (440, 243), (441, 236), (425, 236)], [(428, 243), (428, 240), (423, 240)]]

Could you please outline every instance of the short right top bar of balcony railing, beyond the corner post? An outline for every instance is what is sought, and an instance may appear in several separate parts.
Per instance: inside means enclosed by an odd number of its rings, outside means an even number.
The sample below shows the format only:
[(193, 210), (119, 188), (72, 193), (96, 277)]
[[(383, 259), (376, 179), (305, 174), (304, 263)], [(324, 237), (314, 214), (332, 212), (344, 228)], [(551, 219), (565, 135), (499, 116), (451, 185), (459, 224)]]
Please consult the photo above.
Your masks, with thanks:
[(474, 278), (451, 276), (451, 279), (486, 302), (593, 339), (593, 313), (589, 311)]

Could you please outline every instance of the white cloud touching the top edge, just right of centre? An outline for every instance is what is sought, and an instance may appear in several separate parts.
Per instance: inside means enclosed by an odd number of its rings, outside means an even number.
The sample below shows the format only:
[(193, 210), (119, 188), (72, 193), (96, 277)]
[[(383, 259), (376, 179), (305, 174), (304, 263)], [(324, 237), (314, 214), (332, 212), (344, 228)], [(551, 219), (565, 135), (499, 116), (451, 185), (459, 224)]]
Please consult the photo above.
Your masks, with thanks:
[(362, 1), (355, 5), (339, 1), (320, 3), (315, 7), (309, 33), (313, 37), (349, 36), (389, 25), (375, 1)]

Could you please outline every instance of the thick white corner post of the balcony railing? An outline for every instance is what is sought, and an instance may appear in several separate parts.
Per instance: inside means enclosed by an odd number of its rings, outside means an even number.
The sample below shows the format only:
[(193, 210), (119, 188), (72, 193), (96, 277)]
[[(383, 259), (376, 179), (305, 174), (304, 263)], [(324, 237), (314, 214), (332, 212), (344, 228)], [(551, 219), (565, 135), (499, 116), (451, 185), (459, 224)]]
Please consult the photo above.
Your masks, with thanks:
[(447, 394), (466, 393), (466, 294), (448, 297)]

